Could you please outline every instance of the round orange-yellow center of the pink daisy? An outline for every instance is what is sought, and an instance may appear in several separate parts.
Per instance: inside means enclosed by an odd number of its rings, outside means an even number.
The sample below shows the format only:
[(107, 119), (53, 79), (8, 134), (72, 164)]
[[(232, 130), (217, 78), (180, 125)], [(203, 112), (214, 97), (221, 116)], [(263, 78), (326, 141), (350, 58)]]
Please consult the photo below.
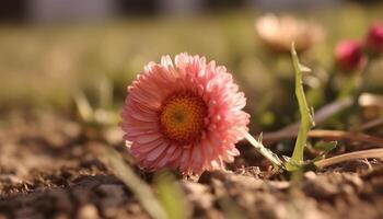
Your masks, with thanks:
[(164, 136), (176, 143), (188, 145), (200, 140), (207, 105), (192, 92), (177, 92), (166, 99), (160, 116)]

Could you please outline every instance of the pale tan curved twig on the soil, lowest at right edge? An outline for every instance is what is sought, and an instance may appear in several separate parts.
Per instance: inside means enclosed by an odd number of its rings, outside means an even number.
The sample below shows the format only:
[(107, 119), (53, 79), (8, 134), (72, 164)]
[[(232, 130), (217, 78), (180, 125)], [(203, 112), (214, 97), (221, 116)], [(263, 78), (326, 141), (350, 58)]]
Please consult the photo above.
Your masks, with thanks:
[(370, 149), (370, 150), (344, 153), (333, 158), (327, 158), (324, 160), (316, 161), (314, 162), (314, 164), (316, 165), (316, 168), (323, 169), (323, 168), (341, 163), (345, 161), (350, 161), (356, 159), (369, 159), (369, 158), (383, 158), (383, 149), (380, 148), (380, 149)]

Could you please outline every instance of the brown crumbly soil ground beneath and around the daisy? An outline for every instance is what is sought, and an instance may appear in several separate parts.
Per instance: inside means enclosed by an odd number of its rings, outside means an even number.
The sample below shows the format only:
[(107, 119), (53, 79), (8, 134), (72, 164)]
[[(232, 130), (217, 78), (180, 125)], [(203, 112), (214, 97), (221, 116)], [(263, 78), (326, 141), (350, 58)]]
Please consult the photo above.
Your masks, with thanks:
[[(106, 143), (131, 162), (117, 130), (101, 140), (60, 115), (8, 113), (5, 120), (0, 124), (0, 219), (149, 218), (94, 152)], [(383, 218), (382, 160), (306, 172), (292, 186), (270, 174), (251, 147), (239, 147), (243, 155), (227, 172), (179, 180), (193, 218), (229, 218), (228, 209), (244, 218)], [(141, 175), (151, 183), (150, 174)]]

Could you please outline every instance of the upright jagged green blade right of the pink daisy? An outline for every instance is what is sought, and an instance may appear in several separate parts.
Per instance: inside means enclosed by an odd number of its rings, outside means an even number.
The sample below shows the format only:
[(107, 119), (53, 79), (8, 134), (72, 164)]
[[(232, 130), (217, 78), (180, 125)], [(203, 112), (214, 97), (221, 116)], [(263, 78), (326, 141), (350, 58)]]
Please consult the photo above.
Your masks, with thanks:
[(314, 122), (304, 95), (302, 80), (302, 72), (310, 71), (310, 69), (299, 62), (294, 44), (291, 45), (291, 58), (295, 73), (295, 96), (298, 99), (299, 112), (301, 114), (301, 125), (299, 127), (294, 151), (292, 152), (290, 163), (287, 164), (287, 170), (295, 171), (298, 169), (295, 164), (303, 162), (303, 151), (307, 142), (307, 132), (311, 127), (314, 126)]

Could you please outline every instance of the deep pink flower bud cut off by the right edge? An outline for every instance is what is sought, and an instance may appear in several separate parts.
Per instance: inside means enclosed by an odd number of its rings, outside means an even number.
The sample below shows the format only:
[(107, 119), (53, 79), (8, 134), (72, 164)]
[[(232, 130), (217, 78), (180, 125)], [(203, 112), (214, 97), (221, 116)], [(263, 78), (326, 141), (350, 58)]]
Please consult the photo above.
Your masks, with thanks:
[(373, 55), (383, 54), (383, 24), (373, 24), (365, 37), (365, 48)]

